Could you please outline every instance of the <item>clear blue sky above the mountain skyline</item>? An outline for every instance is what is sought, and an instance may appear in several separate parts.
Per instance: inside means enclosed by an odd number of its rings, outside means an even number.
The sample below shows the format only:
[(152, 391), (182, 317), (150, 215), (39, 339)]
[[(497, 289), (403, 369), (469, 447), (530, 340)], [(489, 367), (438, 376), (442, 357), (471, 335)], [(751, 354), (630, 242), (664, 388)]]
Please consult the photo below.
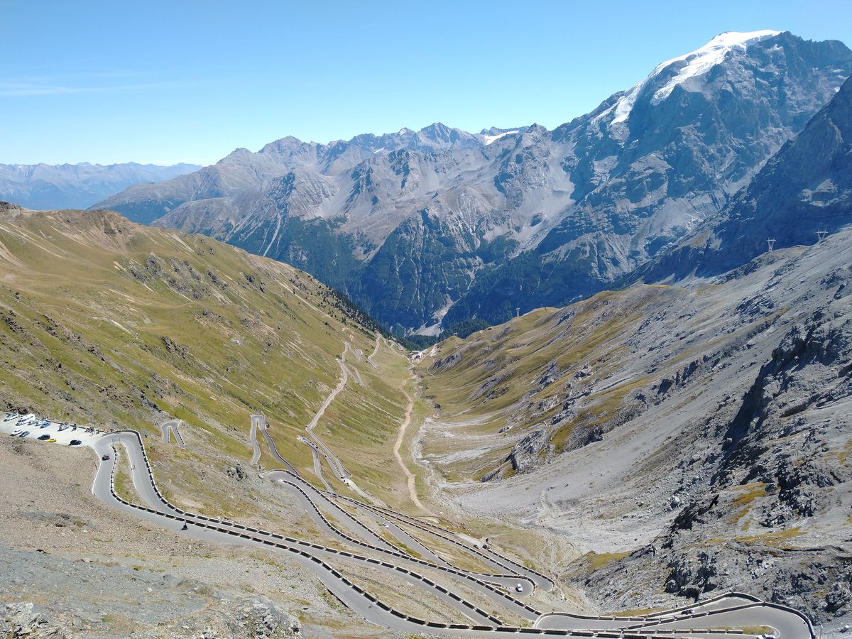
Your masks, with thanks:
[(285, 135), (552, 128), (722, 31), (852, 46), (849, 0), (0, 0), (0, 163), (210, 164)]

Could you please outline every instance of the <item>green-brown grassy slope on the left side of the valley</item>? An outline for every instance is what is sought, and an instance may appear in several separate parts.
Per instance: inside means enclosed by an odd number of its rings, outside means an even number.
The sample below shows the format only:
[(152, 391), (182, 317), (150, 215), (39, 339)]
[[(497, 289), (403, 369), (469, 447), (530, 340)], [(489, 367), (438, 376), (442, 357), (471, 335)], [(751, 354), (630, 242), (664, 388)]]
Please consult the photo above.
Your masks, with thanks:
[[(311, 477), (296, 437), (337, 385), (347, 342), (363, 385), (350, 375), (317, 432), (356, 479), (370, 468), (370, 484), (397, 480), (385, 441), (404, 415), (405, 359), (383, 347), (383, 366), (370, 366), (374, 327), (306, 273), (109, 211), (14, 206), (0, 212), (0, 273), (0, 406), (151, 435), (179, 502), (193, 485), (193, 499), (216, 508), (216, 491), (184, 464), (247, 463), (254, 412)], [(183, 420), (187, 449), (159, 443), (170, 417)], [(359, 465), (346, 454), (356, 441), (358, 458), (385, 450), (389, 463)]]

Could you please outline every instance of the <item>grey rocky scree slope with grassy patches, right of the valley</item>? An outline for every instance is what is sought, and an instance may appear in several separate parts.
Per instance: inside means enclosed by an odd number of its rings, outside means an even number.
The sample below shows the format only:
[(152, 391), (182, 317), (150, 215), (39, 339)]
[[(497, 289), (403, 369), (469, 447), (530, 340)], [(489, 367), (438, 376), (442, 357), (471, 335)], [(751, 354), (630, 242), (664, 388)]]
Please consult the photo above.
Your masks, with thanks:
[[(607, 291), (440, 343), (452, 369), (442, 382), (429, 366), (423, 384), (454, 449), (429, 461), (490, 475), (446, 492), (597, 553), (563, 580), (601, 610), (745, 590), (836, 636), (852, 621), (850, 247), (842, 228), (714, 279)], [(497, 377), (510, 402), (454, 399)], [(474, 411), (487, 427), (462, 425)]]

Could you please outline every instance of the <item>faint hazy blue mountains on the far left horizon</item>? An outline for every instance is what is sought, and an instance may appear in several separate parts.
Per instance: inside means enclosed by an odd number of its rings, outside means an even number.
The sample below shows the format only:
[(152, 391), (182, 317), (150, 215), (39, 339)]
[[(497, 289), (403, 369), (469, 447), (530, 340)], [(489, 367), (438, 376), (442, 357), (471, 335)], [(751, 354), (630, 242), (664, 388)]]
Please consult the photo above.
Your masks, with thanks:
[(0, 199), (28, 209), (86, 209), (141, 182), (199, 170), (197, 164), (0, 164)]

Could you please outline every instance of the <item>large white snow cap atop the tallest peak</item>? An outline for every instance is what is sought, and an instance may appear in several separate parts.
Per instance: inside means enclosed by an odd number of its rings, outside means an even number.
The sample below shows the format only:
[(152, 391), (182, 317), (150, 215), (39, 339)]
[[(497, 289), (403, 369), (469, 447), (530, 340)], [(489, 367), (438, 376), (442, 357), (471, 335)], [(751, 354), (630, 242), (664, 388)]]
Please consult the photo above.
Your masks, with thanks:
[(769, 37), (777, 36), (779, 33), (780, 31), (772, 31), (770, 29), (754, 32), (728, 31), (720, 33), (709, 43), (706, 43), (703, 47), (696, 49), (692, 53), (680, 55), (676, 58), (672, 58), (671, 60), (666, 60), (662, 64), (655, 66), (653, 71), (648, 74), (648, 78), (645, 78), (641, 83), (636, 84), (635, 87), (626, 91), (625, 95), (622, 95), (619, 98), (619, 101), (615, 103), (613, 119), (610, 124), (623, 124), (627, 121), (627, 118), (630, 118), (630, 112), (633, 110), (633, 105), (636, 104), (636, 98), (638, 98), (639, 94), (642, 93), (642, 89), (644, 89), (648, 82), (650, 82), (653, 78), (656, 78), (659, 72), (663, 71), (663, 69), (667, 66), (674, 64), (675, 62), (688, 60), (688, 63), (682, 67), (675, 77), (671, 78), (667, 83), (665, 83), (665, 86), (661, 87), (653, 94), (651, 104), (659, 104), (659, 102), (664, 101), (678, 84), (686, 82), (689, 78), (694, 78), (694, 76), (699, 76), (702, 73), (710, 71), (713, 66), (716, 66), (724, 59), (725, 55), (728, 54), (728, 51), (738, 47), (745, 50), (749, 47), (749, 45), (761, 42)]

